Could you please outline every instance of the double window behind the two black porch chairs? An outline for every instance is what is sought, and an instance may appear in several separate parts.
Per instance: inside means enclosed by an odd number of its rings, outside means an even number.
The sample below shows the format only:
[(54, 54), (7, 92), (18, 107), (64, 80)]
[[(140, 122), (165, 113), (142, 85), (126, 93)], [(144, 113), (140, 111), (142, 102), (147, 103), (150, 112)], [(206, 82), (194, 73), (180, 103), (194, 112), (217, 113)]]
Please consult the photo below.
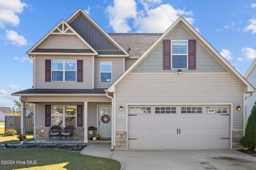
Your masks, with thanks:
[(52, 106), (52, 126), (76, 126), (76, 106)]

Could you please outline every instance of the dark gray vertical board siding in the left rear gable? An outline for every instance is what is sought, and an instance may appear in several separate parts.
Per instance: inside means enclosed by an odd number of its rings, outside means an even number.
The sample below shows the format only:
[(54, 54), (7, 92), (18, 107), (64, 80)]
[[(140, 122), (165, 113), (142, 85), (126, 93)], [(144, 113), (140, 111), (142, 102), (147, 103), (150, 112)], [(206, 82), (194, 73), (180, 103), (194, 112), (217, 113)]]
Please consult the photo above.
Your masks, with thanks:
[(83, 14), (69, 24), (95, 50), (119, 50)]

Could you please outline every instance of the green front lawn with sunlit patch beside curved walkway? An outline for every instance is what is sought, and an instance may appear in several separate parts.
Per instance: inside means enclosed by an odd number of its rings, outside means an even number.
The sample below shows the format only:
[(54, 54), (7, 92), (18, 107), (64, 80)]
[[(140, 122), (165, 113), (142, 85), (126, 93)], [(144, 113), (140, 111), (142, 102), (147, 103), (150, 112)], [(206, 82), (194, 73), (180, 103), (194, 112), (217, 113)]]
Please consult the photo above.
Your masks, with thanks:
[(1, 165), (1, 169), (120, 169), (116, 160), (57, 149), (0, 149), (1, 160), (36, 160), (35, 165)]

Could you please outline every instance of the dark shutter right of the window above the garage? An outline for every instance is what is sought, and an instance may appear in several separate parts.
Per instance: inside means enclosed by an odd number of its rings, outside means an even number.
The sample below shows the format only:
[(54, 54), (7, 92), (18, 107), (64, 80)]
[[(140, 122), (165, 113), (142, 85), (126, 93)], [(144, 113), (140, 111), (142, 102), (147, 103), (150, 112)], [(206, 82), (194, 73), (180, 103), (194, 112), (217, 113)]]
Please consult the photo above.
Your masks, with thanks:
[(196, 70), (196, 40), (188, 40), (188, 69)]

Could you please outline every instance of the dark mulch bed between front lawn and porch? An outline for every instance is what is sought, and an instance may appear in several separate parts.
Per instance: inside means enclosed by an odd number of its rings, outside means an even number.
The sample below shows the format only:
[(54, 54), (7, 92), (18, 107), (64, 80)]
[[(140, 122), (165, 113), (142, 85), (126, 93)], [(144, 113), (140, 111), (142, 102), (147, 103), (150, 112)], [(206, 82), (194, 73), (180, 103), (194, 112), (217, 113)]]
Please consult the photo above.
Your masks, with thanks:
[(50, 148), (50, 149), (62, 149), (69, 151), (77, 151), (80, 152), (86, 147), (86, 145), (6, 145), (3, 148), (22, 148), (22, 149), (42, 149), (42, 148)]

